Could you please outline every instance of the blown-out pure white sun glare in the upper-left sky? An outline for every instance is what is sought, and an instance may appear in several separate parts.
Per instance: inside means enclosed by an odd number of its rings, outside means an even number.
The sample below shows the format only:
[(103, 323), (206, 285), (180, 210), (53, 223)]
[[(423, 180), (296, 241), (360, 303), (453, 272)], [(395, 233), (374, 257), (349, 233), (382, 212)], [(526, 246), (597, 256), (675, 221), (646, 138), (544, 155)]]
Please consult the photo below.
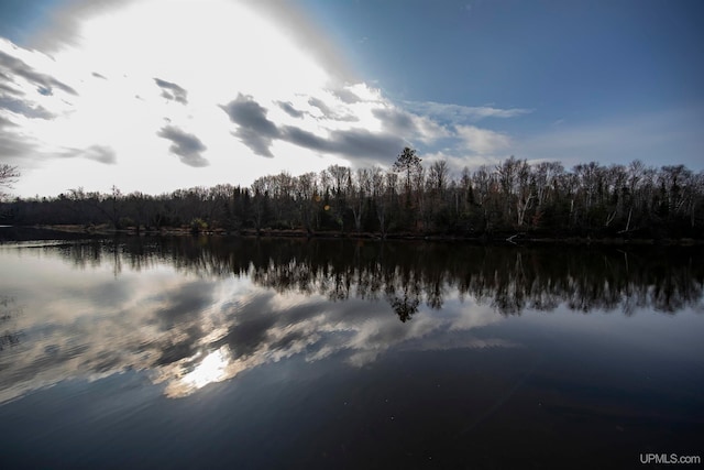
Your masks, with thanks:
[[(45, 61), (45, 68), (76, 95), (57, 90), (44, 98), (56, 102), (48, 109), (56, 118), (34, 123), (32, 135), (47, 156), (90, 157), (80, 151), (94, 146), (110, 152), (112, 165), (92, 164), (88, 189), (116, 184), (128, 193), (155, 193), (152, 188), (163, 183), (154, 182), (154, 174), (165, 175), (168, 189), (175, 189), (249, 185), (282, 165), (293, 173), (321, 170), (333, 159), (314, 157), (305, 149), (287, 147), (276, 162), (248, 159), (250, 150), (232, 135), (234, 127), (220, 108), (238, 94), (251, 95), (272, 117), (287, 122), (293, 118), (282, 114), (278, 102), (305, 107), (308, 97), (324, 96), (330, 76), (277, 21), (226, 0), (144, 0), (87, 18), (76, 44)], [(186, 99), (165, 98), (155, 79), (182, 87)], [(324, 135), (318, 119), (299, 121), (302, 129)], [(207, 164), (197, 170), (182, 164), (172, 142), (158, 136), (165, 125), (197, 136)], [(76, 186), (66, 183), (75, 179), (68, 171), (75, 165), (67, 162), (53, 165), (61, 177), (53, 174), (42, 182), (44, 192)]]

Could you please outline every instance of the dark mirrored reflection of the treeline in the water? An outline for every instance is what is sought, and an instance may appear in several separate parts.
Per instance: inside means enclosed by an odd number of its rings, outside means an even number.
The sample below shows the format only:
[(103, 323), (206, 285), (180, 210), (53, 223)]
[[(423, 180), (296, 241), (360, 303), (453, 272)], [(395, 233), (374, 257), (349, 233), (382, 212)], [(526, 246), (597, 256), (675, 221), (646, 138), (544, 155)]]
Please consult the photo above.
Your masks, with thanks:
[[(350, 240), (129, 238), (67, 244), (77, 266), (122, 263), (141, 270), (168, 262), (207, 276), (250, 276), (277, 293), (330, 300), (386, 299), (402, 321), (421, 303), (442, 308), (448, 288), (502, 315), (525, 309), (701, 308), (704, 250), (675, 247), (480, 247), (465, 243)], [(117, 256), (120, 253), (121, 256)], [(117, 260), (117, 261), (116, 261)]]

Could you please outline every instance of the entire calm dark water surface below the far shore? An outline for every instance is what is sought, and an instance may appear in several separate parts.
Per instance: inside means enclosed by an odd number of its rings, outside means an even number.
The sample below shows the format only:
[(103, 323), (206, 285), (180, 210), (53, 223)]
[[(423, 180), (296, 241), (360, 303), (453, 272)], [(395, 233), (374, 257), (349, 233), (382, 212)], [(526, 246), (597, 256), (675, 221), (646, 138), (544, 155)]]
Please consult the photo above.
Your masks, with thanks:
[(0, 239), (3, 469), (704, 457), (702, 249)]

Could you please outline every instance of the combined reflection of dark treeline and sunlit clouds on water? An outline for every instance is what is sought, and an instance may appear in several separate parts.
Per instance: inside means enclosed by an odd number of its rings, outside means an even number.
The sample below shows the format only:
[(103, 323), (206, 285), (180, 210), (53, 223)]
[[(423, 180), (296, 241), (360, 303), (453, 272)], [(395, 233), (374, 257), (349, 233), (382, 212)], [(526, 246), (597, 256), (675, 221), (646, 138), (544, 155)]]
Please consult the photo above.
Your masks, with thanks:
[(125, 370), (177, 397), (294, 356), (362, 367), (392, 349), (519, 347), (482, 327), (527, 309), (702, 310), (704, 281), (694, 249), (131, 238), (0, 258), (14, 299), (0, 403)]

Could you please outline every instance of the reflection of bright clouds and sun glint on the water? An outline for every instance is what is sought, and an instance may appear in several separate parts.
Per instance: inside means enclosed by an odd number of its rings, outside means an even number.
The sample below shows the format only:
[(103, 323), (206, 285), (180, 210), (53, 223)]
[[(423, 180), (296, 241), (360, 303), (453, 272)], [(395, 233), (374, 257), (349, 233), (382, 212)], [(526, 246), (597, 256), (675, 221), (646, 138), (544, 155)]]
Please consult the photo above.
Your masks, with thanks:
[(72, 265), (54, 249), (3, 248), (0, 296), (20, 308), (3, 329), (0, 403), (63, 380), (146, 371), (168, 396), (300, 354), (361, 367), (391, 349), (512, 346), (470, 330), (501, 320), (449, 291), (442, 310), (420, 306), (402, 324), (385, 302), (276, 293), (249, 277), (208, 278), (166, 263)]

